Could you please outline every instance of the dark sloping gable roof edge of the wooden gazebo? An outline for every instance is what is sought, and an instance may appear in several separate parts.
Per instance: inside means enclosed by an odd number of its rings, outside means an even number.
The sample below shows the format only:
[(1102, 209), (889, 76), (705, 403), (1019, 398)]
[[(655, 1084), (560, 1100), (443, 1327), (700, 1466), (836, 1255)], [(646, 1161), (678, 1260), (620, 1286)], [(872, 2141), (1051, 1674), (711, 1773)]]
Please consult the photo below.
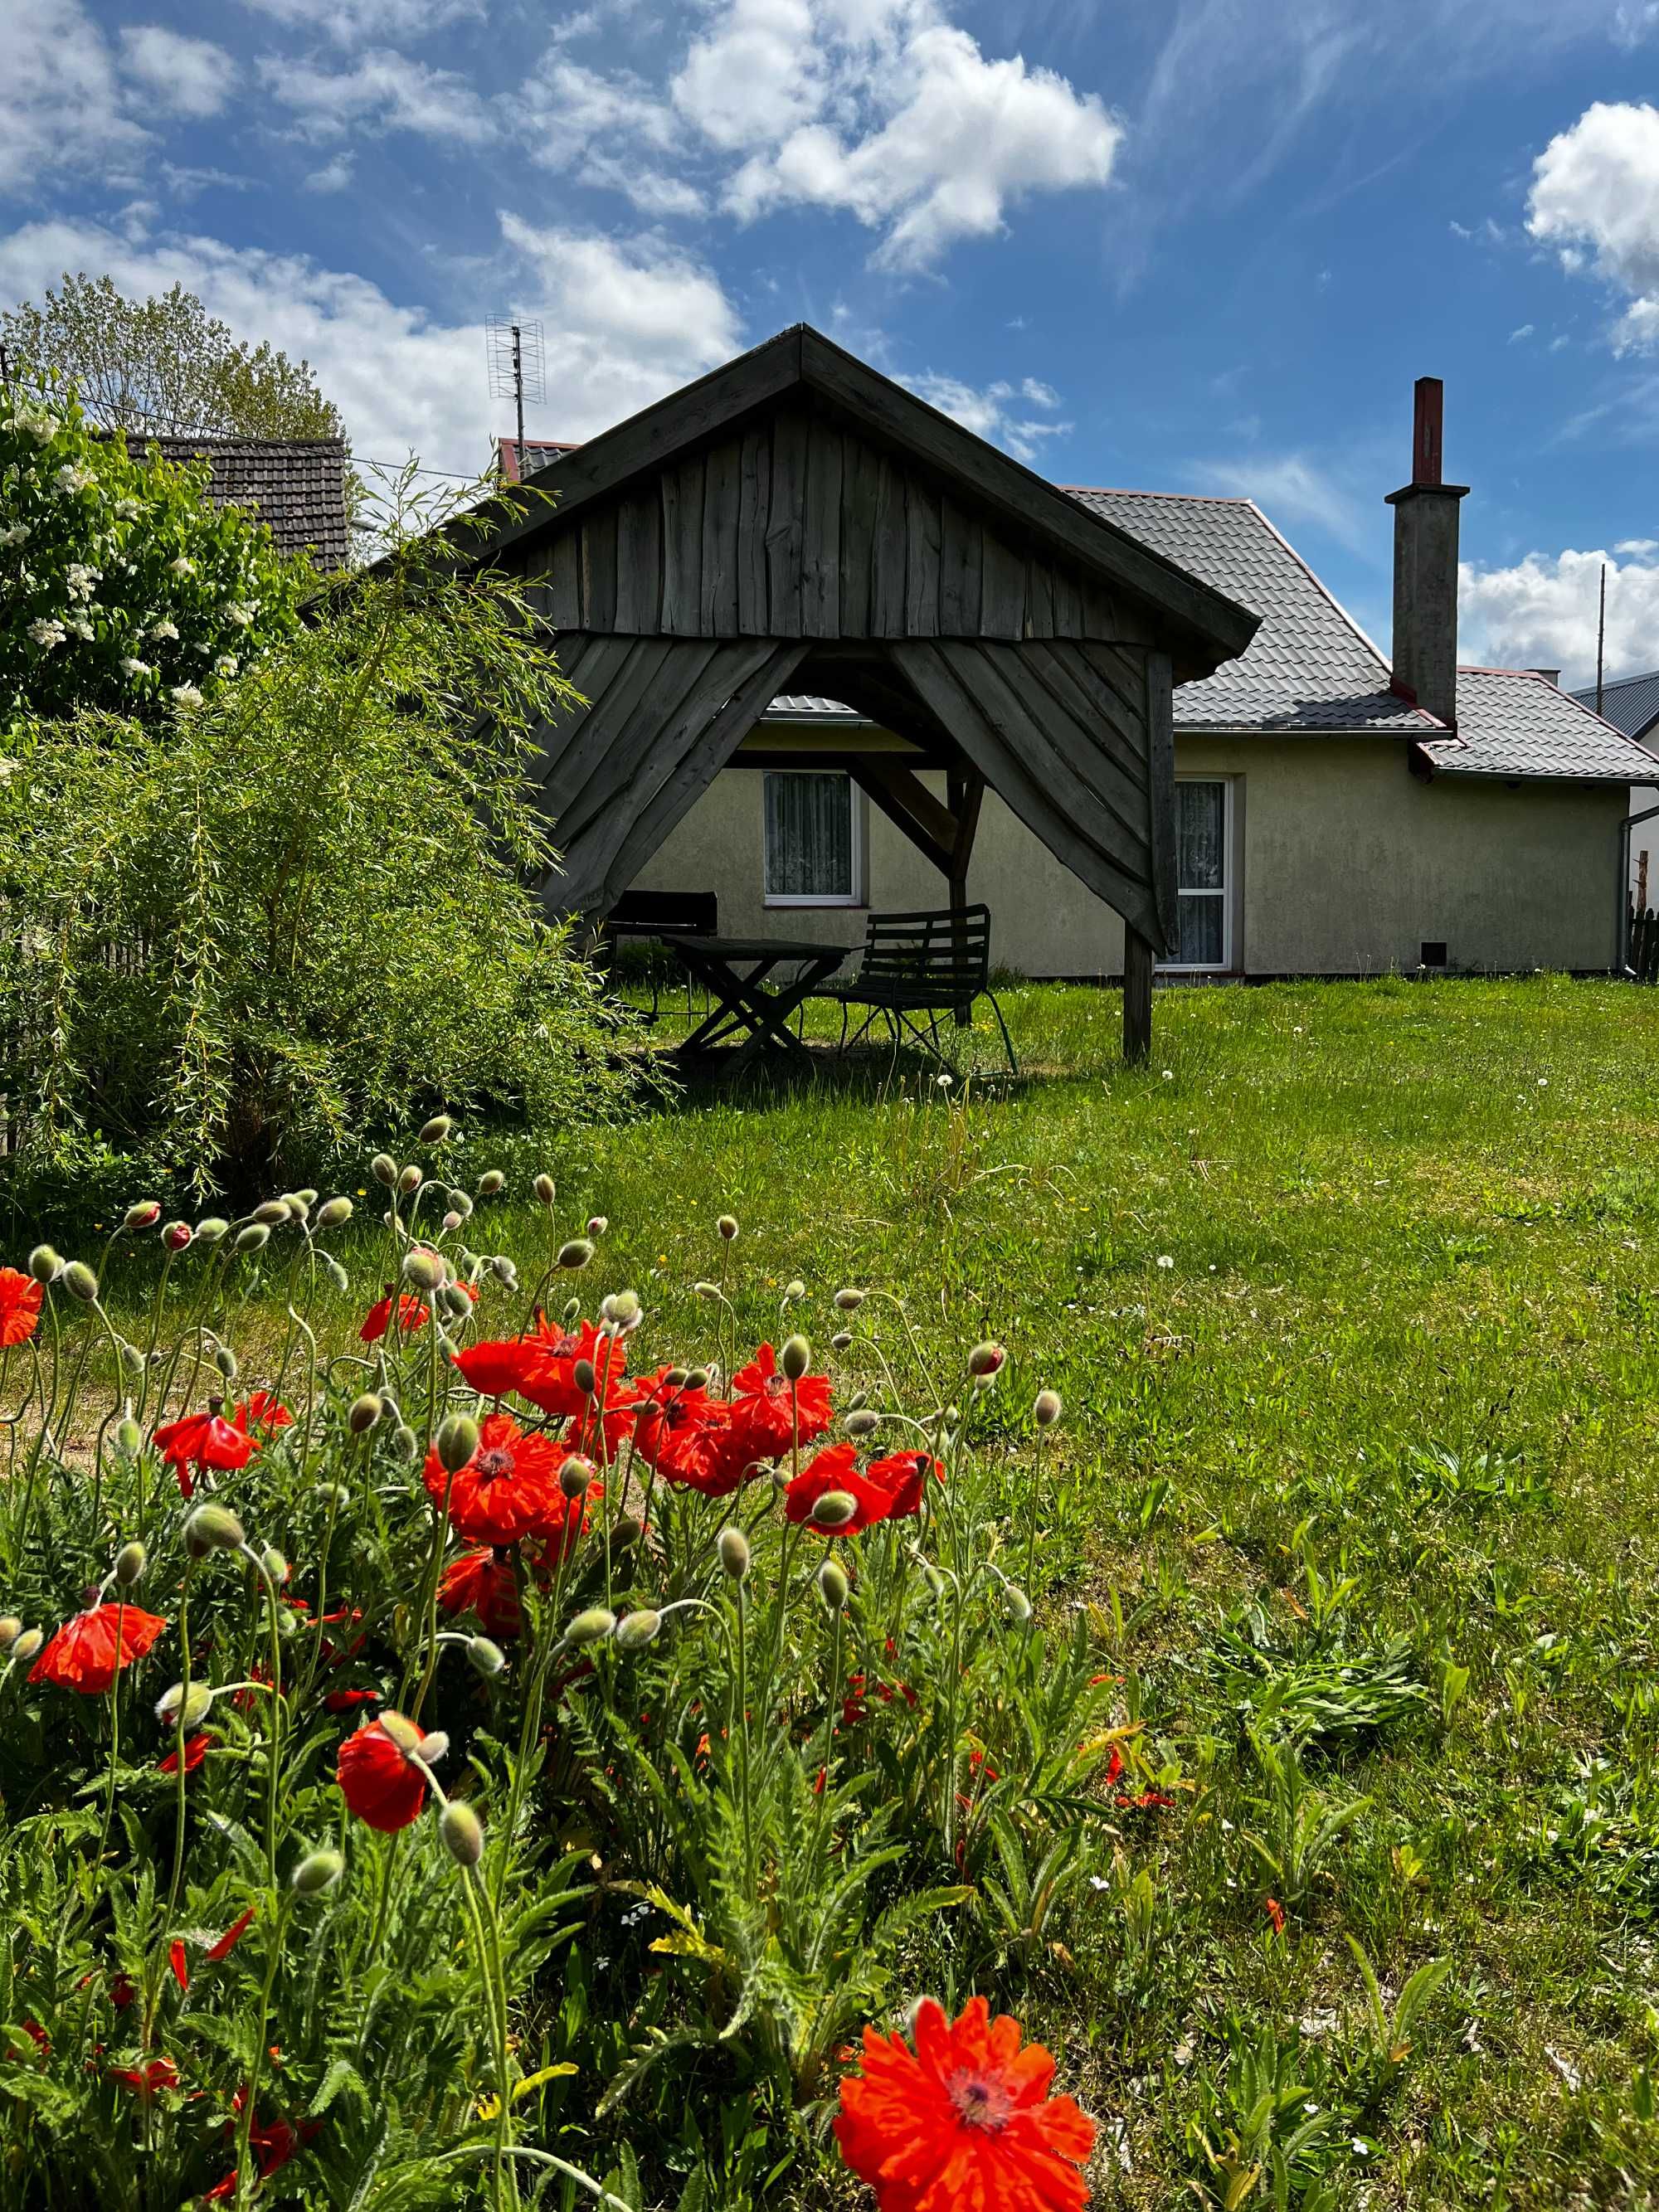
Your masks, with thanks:
[(542, 498), (504, 491), (495, 502), (500, 526), (476, 542), (478, 553), (535, 568), (538, 544), (560, 538), (584, 509), (613, 500), (633, 480), (670, 469), (679, 456), (792, 398), (832, 411), (874, 447), (925, 469), (964, 509), (1035, 544), (1084, 584), (1133, 597), (1172, 653), (1177, 677), (1210, 675), (1250, 644), (1256, 617), (1248, 608), (1084, 511), (1033, 469), (805, 323), (562, 453), (533, 478)]

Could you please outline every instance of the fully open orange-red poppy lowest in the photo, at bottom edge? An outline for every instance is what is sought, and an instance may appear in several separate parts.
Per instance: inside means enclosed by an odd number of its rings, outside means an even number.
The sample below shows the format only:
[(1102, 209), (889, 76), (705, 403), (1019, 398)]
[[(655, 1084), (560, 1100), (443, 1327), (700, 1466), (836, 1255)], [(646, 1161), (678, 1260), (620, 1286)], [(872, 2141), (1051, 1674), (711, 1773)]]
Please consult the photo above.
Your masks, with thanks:
[(927, 1997), (916, 2051), (865, 2028), (863, 2075), (841, 2084), (841, 2157), (878, 2212), (1084, 2212), (1095, 2124), (1051, 2097), (1053, 2057), (1020, 2022), (969, 1997), (949, 2022)]

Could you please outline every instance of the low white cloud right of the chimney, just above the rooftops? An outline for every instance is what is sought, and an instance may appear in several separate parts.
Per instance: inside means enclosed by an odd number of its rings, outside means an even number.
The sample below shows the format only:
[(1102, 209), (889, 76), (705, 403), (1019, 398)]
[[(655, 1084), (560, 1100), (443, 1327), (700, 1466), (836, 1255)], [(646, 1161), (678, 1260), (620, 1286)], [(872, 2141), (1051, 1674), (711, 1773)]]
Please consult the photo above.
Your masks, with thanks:
[[(1659, 546), (1613, 553), (1528, 553), (1509, 568), (1460, 571), (1460, 657), (1491, 668), (1559, 668), (1573, 688), (1595, 681), (1601, 568), (1608, 573), (1608, 677), (1659, 661)], [(1626, 557), (1619, 560), (1619, 553)]]

